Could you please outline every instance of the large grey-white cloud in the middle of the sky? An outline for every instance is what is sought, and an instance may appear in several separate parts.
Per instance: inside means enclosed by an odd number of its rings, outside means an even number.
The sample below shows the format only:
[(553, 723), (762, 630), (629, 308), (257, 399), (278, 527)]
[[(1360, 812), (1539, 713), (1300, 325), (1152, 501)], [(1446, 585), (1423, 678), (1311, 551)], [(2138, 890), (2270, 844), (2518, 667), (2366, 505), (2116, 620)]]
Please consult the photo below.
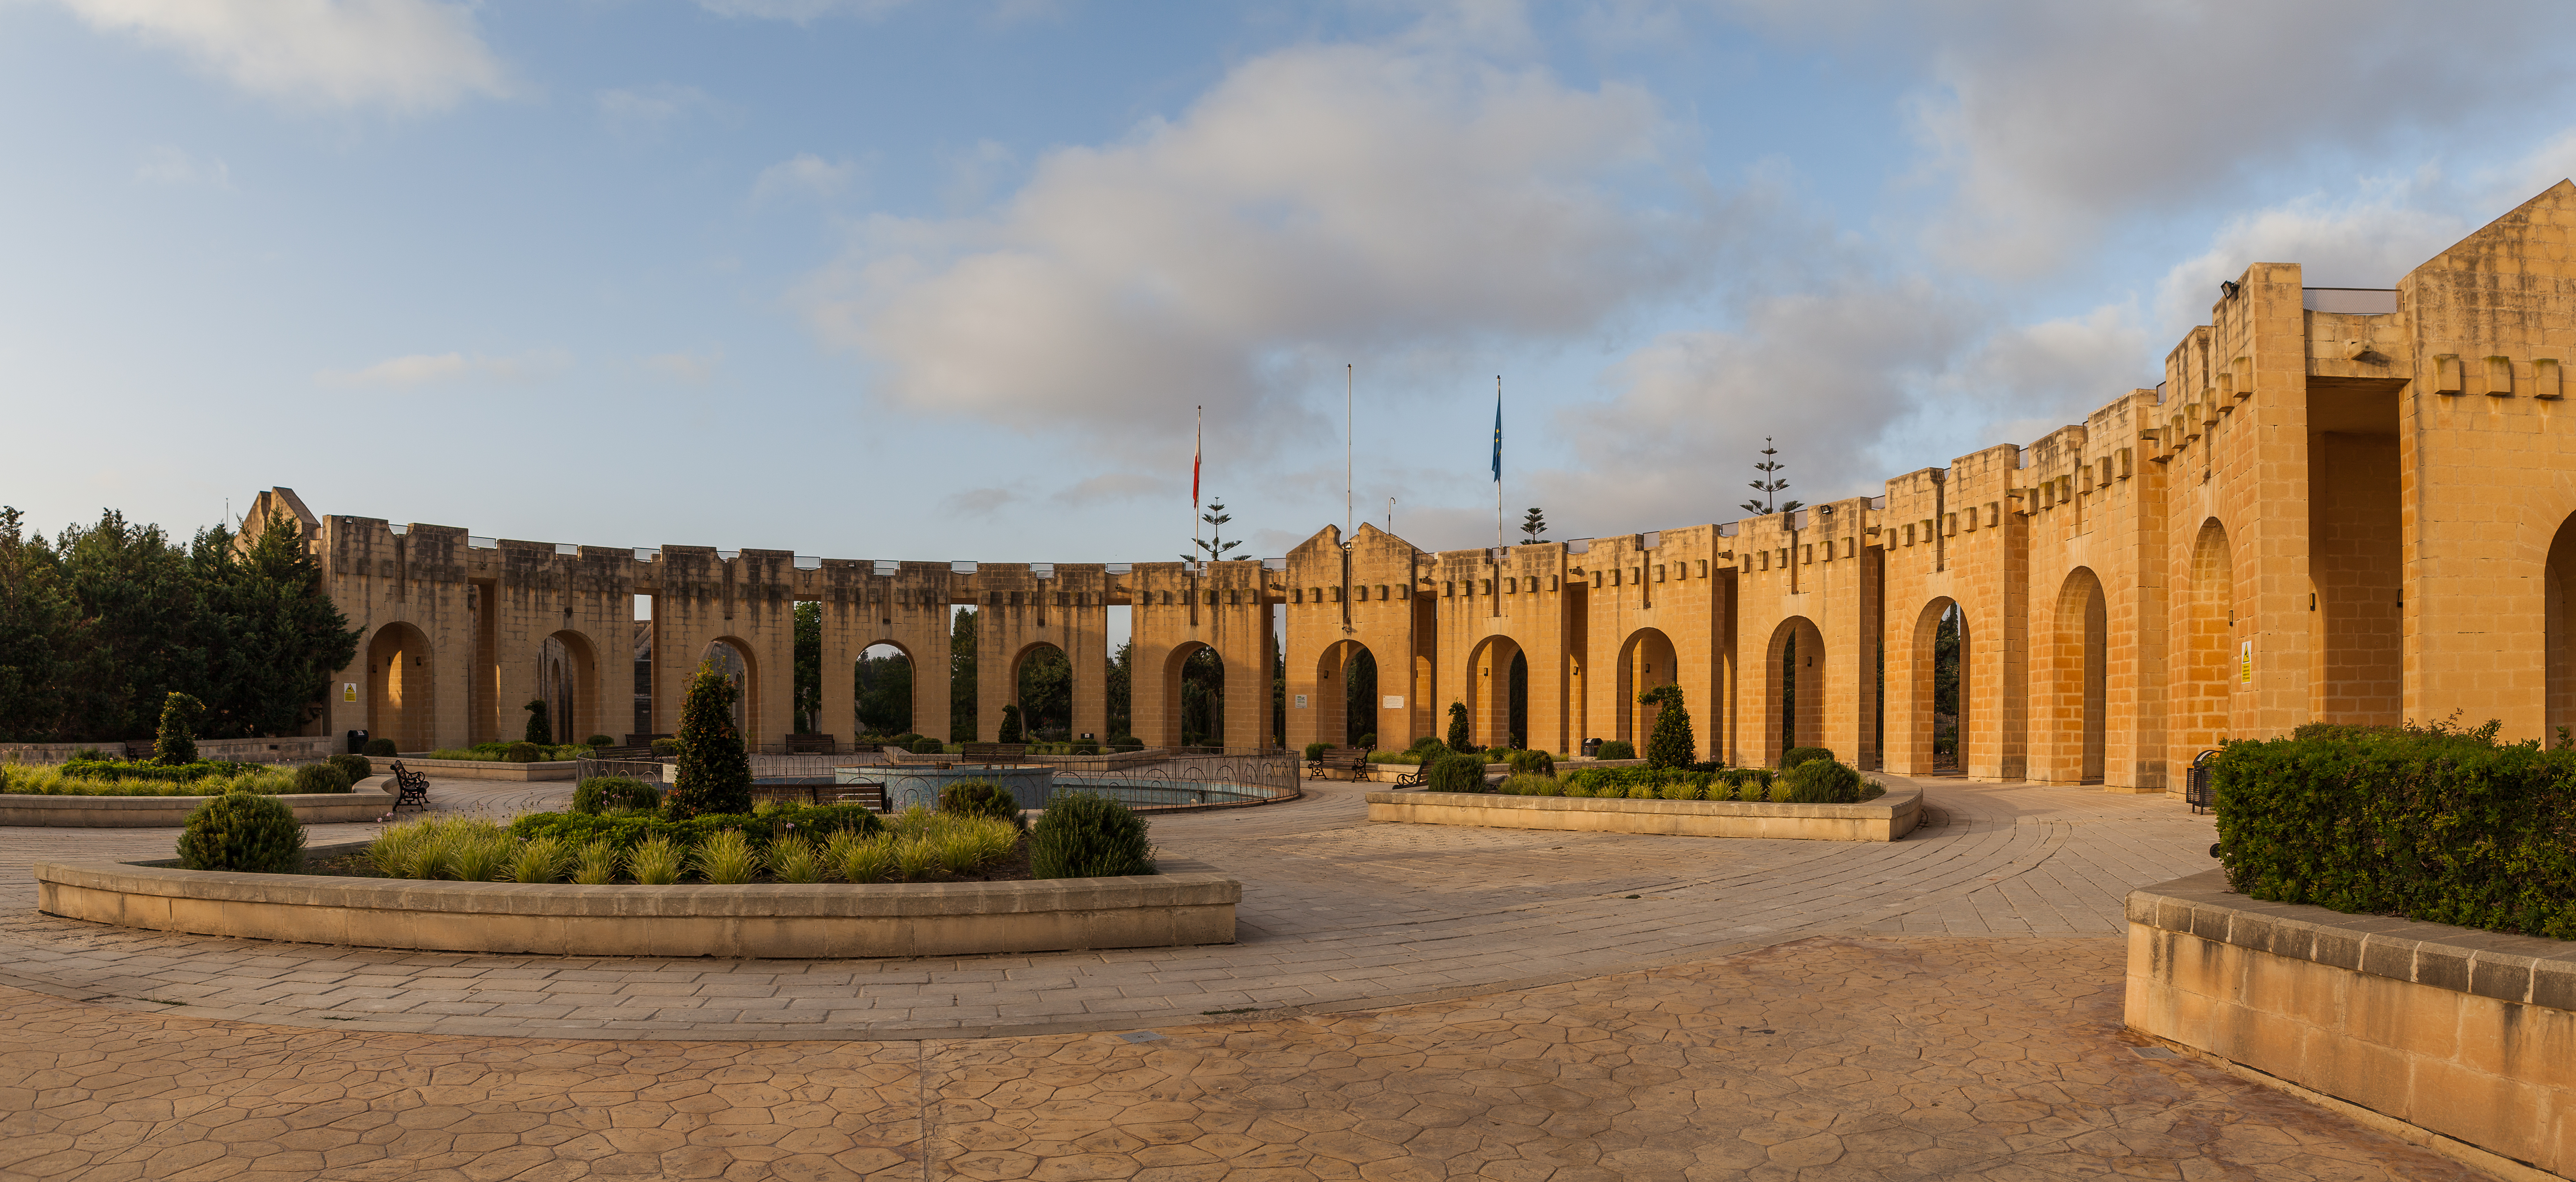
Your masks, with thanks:
[(804, 288), (817, 330), (902, 407), (1023, 430), (1247, 422), (1303, 379), (1425, 348), (1564, 340), (1705, 283), (1710, 198), (1662, 180), (1631, 88), (1437, 52), (1252, 59), (1177, 121), (1046, 155), (984, 219), (876, 219)]

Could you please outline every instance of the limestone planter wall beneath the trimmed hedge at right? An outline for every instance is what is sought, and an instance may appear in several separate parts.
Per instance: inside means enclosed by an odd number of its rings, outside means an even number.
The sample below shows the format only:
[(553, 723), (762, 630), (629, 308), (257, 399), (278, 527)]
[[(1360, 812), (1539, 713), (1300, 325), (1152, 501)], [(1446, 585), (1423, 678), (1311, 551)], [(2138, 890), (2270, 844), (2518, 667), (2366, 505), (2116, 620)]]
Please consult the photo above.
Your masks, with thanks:
[(2267, 904), (2208, 870), (2128, 894), (2128, 1025), (2576, 1177), (2576, 943)]

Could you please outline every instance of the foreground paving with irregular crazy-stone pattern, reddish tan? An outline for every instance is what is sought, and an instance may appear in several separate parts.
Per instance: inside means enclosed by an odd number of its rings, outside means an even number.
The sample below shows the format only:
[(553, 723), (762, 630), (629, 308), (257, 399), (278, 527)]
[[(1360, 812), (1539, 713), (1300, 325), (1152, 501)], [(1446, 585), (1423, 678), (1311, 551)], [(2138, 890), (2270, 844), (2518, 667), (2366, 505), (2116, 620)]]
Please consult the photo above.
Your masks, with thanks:
[(0, 989), (0, 1177), (2481, 1177), (2141, 1056), (2123, 955), (1837, 935), (1350, 1015), (791, 1046), (361, 1035)]

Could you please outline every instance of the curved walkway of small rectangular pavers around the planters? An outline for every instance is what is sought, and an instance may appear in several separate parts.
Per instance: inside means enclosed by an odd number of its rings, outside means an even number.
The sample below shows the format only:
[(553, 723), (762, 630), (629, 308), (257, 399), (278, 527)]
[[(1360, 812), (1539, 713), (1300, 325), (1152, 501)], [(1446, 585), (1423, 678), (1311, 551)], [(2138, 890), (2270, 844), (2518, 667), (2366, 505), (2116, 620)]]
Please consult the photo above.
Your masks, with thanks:
[[(569, 785), (438, 788), (446, 809)], [(2120, 935), (2130, 886), (2208, 868), (2164, 796), (1927, 780), (1901, 842), (1370, 824), (1365, 785), (1164, 816), (1167, 868), (1244, 881), (1236, 945), (925, 961), (528, 958), (131, 932), (33, 912), (26, 865), (152, 858), (157, 829), (0, 829), (0, 984), (327, 1030), (677, 1040), (974, 1038), (1329, 1015), (1569, 984), (1811, 935)], [(340, 832), (345, 829), (345, 834)], [(314, 827), (314, 842), (371, 827)], [(70, 837), (67, 834), (77, 834)]]

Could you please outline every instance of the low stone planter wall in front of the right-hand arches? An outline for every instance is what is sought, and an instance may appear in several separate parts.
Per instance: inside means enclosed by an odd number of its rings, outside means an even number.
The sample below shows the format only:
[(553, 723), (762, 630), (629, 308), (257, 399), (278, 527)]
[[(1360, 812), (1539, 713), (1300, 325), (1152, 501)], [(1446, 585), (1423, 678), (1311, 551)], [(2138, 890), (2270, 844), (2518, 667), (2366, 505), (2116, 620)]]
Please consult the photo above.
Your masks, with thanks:
[(1595, 834), (1893, 842), (1922, 819), (1922, 788), (1868, 803), (1610, 801), (1592, 796), (1368, 793), (1370, 821), (1571, 829)]

